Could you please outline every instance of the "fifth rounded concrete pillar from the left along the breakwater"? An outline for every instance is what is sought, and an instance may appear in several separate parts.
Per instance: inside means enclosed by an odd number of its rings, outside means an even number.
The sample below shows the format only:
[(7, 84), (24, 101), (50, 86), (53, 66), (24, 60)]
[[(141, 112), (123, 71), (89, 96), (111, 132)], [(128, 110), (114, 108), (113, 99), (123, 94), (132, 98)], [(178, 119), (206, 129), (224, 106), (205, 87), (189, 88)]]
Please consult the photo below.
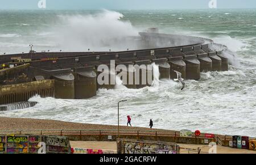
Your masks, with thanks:
[[(149, 66), (150, 65), (150, 66)], [(135, 84), (136, 88), (151, 86), (153, 81), (153, 70), (150, 60), (135, 62)]]

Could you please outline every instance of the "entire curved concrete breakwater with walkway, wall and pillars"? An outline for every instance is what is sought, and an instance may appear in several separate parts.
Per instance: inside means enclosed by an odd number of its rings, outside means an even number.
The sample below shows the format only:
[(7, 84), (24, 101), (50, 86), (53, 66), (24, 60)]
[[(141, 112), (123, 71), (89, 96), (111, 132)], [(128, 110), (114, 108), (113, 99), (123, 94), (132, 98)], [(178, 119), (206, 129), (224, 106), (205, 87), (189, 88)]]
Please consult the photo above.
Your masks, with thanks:
[[(228, 58), (222, 53), (226, 48), (213, 50), (212, 40), (160, 33), (140, 35), (140, 40), (147, 45), (143, 48), (148, 49), (31, 52), (0, 56), (0, 64), (5, 63), (9, 67), (0, 69), (0, 84), (3, 85), (0, 86), (0, 104), (27, 101), (36, 94), (58, 99), (92, 98), (99, 88), (113, 89), (119, 73), (125, 73), (120, 79), (128, 88), (150, 86), (154, 77), (151, 75), (152, 67), (148, 65), (153, 63), (158, 65), (160, 79), (177, 78), (174, 70), (179, 71), (184, 79), (195, 80), (200, 79), (200, 72), (228, 70)], [(101, 65), (110, 66), (111, 61), (115, 61), (114, 72), (109, 69), (98, 70)], [(119, 65), (129, 68), (117, 69)], [(108, 83), (100, 83), (98, 79)]]

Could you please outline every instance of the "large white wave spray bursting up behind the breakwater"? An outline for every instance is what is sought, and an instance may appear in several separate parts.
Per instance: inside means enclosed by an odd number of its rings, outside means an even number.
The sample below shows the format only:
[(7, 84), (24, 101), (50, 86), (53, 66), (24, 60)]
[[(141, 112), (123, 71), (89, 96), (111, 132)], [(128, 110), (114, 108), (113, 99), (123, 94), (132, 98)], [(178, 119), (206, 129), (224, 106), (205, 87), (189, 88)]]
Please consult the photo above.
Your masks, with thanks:
[(103, 10), (89, 15), (60, 15), (60, 27), (54, 29), (56, 43), (65, 50), (126, 50), (137, 48), (130, 36), (138, 31), (119, 12)]

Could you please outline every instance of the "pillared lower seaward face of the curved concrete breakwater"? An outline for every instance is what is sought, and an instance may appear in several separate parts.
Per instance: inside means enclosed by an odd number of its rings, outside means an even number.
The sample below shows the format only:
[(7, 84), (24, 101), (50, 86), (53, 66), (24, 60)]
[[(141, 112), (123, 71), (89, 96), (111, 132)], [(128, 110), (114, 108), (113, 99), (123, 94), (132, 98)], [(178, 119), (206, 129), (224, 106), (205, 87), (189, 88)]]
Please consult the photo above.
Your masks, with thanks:
[[(105, 55), (108, 56), (109, 55)], [(88, 58), (88, 57), (87, 57)], [(174, 79), (179, 71), (184, 79), (200, 79), (200, 72), (205, 71), (222, 71), (228, 68), (227, 60), (222, 62), (220, 54), (217, 52), (201, 53), (198, 55), (189, 55), (185, 57), (167, 57), (152, 60), (142, 60), (134, 62), (120, 62), (119, 64), (140, 66), (139, 80), (135, 84), (135, 67), (134, 69), (122, 70), (126, 72), (127, 81), (131, 84), (125, 84), (128, 88), (142, 88), (151, 84), (143, 83), (143, 76), (146, 79), (154, 79), (148, 77), (148, 73), (152, 73), (152, 69), (141, 67), (142, 65), (151, 65), (155, 63), (159, 67), (160, 79)], [(225, 58), (226, 59), (226, 58)], [(67, 59), (71, 60), (71, 59)], [(64, 60), (60, 60), (64, 61)], [(52, 64), (52, 61), (44, 61), (44, 66), (47, 63)], [(224, 66), (222, 65), (224, 64)], [(42, 81), (32, 81), (28, 83), (11, 84), (0, 86), (0, 104), (9, 104), (20, 101), (27, 101), (32, 96), (38, 94), (42, 97), (54, 97), (59, 99), (87, 99), (96, 96), (98, 88), (113, 89), (115, 84), (98, 84), (97, 79), (101, 72), (97, 71), (97, 66), (72, 67), (72, 69), (45, 70), (35, 67), (34, 64), (28, 67), (28, 77), (43, 77)], [(40, 61), (42, 65), (42, 61)], [(135, 69), (136, 70), (136, 69)], [(145, 71), (143, 71), (145, 70)], [(145, 75), (143, 75), (143, 73)], [(117, 73), (106, 72), (105, 78), (108, 77), (108, 82), (114, 81)]]

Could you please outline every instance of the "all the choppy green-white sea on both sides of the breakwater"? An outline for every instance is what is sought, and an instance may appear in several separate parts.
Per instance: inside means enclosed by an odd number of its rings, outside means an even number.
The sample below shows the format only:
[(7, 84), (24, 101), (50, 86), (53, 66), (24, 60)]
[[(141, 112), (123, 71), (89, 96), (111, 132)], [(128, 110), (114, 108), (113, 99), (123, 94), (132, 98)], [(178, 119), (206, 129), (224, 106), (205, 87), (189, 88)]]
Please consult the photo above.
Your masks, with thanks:
[[(39, 102), (35, 107), (0, 115), (117, 125), (117, 102), (127, 99), (120, 109), (123, 125), (126, 115), (131, 115), (134, 126), (148, 126), (152, 119), (155, 128), (255, 137), (255, 16), (256, 10), (249, 9), (0, 11), (0, 54), (27, 52), (30, 43), (38, 52), (118, 50), (122, 47), (108, 43), (110, 36), (137, 35), (147, 27), (159, 27), (160, 32), (208, 37), (237, 56), (229, 71), (201, 73), (200, 81), (185, 81), (184, 91), (179, 83), (163, 80), (159, 87), (102, 89), (85, 100), (35, 96), (30, 99)], [(69, 41), (64, 42), (67, 37)]]

